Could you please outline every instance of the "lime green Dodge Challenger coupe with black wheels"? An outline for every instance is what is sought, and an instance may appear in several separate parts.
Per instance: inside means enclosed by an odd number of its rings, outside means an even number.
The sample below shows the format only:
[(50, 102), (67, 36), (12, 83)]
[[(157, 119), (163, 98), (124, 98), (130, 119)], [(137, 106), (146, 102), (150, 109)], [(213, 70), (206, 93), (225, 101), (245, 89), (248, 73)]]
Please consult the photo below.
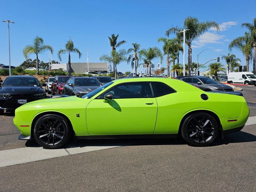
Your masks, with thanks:
[(42, 99), (15, 110), (19, 139), (44, 148), (70, 137), (172, 138), (207, 146), (241, 130), (249, 116), (244, 97), (204, 92), (170, 78), (123, 78), (82, 96)]

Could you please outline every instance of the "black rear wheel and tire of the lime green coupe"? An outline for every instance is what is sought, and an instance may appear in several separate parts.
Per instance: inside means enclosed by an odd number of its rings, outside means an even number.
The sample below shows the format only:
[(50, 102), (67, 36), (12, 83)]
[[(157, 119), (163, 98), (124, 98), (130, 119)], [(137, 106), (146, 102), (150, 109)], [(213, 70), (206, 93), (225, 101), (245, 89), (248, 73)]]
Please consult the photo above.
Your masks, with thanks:
[(189, 145), (198, 147), (208, 146), (214, 142), (218, 135), (218, 123), (210, 114), (192, 114), (183, 122), (181, 133)]

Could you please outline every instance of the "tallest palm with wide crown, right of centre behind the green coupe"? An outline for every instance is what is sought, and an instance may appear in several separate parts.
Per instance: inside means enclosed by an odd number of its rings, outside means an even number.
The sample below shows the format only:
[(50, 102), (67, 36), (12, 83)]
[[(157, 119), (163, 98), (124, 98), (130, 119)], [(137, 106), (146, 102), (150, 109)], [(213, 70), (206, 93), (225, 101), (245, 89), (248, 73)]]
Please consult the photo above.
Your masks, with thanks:
[[(186, 44), (188, 45), (188, 74), (190, 75), (190, 66), (192, 64), (192, 41), (200, 37), (202, 34), (206, 33), (210, 28), (216, 28), (217, 31), (220, 30), (219, 25), (215, 21), (199, 22), (198, 18), (188, 16), (184, 20), (184, 29), (189, 29), (186, 32)], [(177, 34), (182, 31), (183, 28), (171, 27), (166, 31), (166, 35)]]

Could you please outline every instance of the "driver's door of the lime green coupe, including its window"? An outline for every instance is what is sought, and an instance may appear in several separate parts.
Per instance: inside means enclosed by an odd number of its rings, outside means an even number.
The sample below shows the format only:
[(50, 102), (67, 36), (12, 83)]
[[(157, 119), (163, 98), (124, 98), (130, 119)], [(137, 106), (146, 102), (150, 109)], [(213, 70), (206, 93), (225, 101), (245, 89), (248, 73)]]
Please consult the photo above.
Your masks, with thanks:
[[(112, 100), (104, 102), (111, 93)], [(148, 82), (118, 84), (86, 107), (89, 135), (153, 134), (157, 115), (156, 98)]]

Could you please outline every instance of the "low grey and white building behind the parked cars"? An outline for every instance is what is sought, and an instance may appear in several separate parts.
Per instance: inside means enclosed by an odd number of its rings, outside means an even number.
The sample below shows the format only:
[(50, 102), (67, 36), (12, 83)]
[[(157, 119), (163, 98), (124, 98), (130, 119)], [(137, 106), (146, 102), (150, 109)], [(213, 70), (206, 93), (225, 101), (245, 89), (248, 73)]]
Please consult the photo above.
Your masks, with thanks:
[[(111, 71), (111, 65), (108, 63), (71, 63), (71, 72), (74, 73), (85, 73), (89, 71)], [(60, 69), (68, 71), (68, 64), (53, 63), (52, 69)]]

